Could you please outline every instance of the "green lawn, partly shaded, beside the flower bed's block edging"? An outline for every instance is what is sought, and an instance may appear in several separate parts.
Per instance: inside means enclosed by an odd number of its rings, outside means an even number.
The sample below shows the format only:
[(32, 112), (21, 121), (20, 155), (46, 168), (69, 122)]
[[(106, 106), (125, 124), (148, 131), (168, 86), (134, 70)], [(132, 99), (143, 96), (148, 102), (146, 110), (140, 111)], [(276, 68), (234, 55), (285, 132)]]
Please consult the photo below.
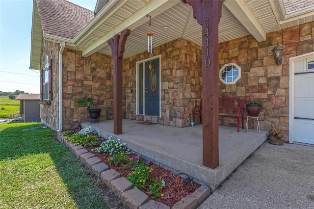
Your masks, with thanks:
[(108, 208), (100, 188), (40, 123), (0, 124), (0, 209)]

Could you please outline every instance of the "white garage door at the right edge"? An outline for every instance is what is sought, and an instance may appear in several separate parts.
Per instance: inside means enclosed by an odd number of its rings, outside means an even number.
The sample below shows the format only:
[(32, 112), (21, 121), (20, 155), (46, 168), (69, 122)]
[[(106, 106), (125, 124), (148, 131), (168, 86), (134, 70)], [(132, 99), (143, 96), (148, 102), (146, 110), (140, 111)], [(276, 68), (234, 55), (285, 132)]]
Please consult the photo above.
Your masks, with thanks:
[(293, 138), (314, 144), (314, 55), (294, 61)]

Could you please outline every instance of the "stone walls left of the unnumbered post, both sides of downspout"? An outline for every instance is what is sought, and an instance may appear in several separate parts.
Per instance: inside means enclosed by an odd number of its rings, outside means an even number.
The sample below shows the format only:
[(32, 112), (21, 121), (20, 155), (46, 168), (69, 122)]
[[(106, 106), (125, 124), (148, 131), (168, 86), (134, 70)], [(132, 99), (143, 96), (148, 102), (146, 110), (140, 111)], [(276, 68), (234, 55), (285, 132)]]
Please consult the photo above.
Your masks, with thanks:
[[(44, 66), (46, 54), (49, 59), (52, 59), (53, 98), (51, 104), (40, 105), (40, 118), (44, 124), (47, 118), (47, 125), (57, 130), (59, 129), (59, 44), (43, 40), (41, 68)], [(86, 105), (76, 103), (87, 98), (92, 98), (95, 108), (102, 109), (99, 120), (113, 119), (112, 57), (101, 53), (83, 57), (82, 52), (64, 49), (62, 58), (63, 130), (75, 128), (74, 119), (79, 122), (91, 121)]]

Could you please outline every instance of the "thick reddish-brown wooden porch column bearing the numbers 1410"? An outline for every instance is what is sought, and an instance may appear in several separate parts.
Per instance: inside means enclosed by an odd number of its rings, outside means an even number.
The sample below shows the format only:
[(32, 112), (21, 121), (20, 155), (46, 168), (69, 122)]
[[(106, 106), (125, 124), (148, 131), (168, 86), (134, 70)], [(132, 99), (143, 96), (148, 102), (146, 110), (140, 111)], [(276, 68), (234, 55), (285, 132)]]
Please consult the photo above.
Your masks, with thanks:
[(225, 0), (182, 0), (193, 8), (203, 38), (203, 165), (219, 165), (218, 146), (218, 24)]

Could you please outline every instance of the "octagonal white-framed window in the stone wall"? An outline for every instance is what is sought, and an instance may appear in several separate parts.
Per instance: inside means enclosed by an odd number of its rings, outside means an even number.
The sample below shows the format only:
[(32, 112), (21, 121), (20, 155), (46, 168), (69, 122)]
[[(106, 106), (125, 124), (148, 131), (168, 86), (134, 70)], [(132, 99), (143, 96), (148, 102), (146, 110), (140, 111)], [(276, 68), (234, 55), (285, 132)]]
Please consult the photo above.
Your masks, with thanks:
[(219, 79), (224, 84), (234, 84), (241, 78), (241, 68), (235, 63), (225, 64), (219, 71)]

